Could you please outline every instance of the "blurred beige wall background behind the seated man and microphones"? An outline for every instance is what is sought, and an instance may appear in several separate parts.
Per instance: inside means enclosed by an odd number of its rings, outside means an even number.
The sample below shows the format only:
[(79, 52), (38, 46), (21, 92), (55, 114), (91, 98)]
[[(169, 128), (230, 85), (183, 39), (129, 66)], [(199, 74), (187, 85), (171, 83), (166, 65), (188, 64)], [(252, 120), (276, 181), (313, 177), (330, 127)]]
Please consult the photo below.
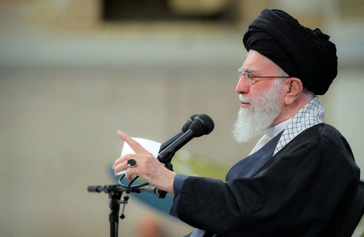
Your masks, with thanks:
[[(0, 1), (0, 236), (109, 236), (107, 194), (87, 186), (116, 183), (118, 130), (163, 142), (205, 113), (214, 131), (187, 144), (181, 159), (227, 170), (246, 157), (260, 136), (244, 145), (232, 139), (234, 88), (247, 53), (242, 37), (264, 8), (282, 9), (336, 44), (339, 73), (319, 96), (324, 121), (364, 170), (363, 7), (362, 0)], [(182, 166), (174, 165), (201, 175)], [(203, 175), (217, 177), (204, 167)], [(193, 230), (153, 205), (131, 196), (119, 236)], [(355, 236), (363, 232), (359, 226)]]

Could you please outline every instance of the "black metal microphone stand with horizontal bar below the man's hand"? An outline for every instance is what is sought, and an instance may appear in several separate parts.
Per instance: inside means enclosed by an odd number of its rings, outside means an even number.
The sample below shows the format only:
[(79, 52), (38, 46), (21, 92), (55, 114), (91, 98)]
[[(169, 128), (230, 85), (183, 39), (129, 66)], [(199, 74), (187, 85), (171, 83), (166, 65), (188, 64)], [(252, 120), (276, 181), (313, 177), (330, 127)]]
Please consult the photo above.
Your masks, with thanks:
[[(124, 195), (122, 201), (120, 201), (123, 192), (127, 191), (128, 188), (122, 187), (120, 185), (104, 185), (103, 187), (98, 186), (88, 186), (87, 191), (92, 193), (108, 193), (109, 194), (109, 207), (110, 207), (110, 214), (109, 214), (109, 222), (110, 222), (110, 237), (118, 237), (118, 224), (119, 224), (119, 217), (120, 219), (124, 219), (124, 208), (125, 204), (128, 203), (129, 197)], [(141, 192), (149, 192), (157, 194), (158, 189), (156, 187), (138, 187), (130, 189), (132, 193), (141, 193)], [(123, 204), (123, 212), (119, 216), (119, 208), (120, 204)]]

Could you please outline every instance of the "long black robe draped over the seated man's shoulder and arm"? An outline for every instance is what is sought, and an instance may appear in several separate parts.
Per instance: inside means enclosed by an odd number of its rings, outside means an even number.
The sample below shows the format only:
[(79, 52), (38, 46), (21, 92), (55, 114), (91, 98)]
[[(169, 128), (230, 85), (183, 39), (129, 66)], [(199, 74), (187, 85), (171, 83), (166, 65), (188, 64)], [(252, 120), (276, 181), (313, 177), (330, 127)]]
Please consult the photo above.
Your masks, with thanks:
[(178, 218), (207, 230), (204, 236), (335, 236), (359, 179), (345, 138), (321, 123), (297, 135), (251, 178), (187, 178)]

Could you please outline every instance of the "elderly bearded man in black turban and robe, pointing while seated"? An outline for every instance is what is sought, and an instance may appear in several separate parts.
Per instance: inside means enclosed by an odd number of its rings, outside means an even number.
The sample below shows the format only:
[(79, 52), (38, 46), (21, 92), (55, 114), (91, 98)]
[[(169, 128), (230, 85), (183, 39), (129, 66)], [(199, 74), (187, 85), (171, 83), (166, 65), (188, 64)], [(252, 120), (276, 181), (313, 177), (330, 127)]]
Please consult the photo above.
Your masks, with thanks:
[(335, 44), (280, 10), (264, 9), (243, 39), (249, 54), (238, 69), (241, 108), (233, 136), (250, 155), (226, 182), (167, 170), (137, 142), (115, 161), (151, 185), (175, 195), (170, 214), (196, 229), (190, 236), (336, 236), (346, 218), (360, 170), (345, 138), (323, 123), (324, 94), (337, 74)]

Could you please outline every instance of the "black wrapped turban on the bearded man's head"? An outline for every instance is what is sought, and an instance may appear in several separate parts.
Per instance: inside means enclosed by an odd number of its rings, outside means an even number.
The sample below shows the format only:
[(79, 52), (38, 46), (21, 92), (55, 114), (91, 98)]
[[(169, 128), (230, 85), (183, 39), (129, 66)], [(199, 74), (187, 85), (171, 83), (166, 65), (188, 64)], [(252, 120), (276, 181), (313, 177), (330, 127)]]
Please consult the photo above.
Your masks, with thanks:
[(315, 95), (323, 95), (337, 75), (336, 47), (329, 38), (284, 11), (264, 9), (249, 25), (243, 43), (246, 50), (258, 51), (300, 79)]

